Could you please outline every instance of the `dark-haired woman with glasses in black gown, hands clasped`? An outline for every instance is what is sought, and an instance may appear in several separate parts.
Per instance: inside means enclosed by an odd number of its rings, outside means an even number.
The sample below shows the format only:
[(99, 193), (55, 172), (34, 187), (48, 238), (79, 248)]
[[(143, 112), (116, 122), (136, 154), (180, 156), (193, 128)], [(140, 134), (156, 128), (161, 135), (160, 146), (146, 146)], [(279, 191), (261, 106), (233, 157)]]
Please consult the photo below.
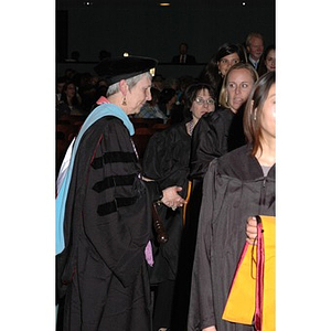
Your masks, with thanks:
[[(200, 118), (215, 109), (215, 92), (204, 83), (190, 85), (184, 94), (185, 119), (167, 130), (154, 134), (143, 154), (143, 175), (157, 181), (160, 188), (180, 185), (180, 194), (188, 195), (191, 136)], [(150, 281), (154, 290), (153, 330), (170, 328), (173, 293), (178, 276), (179, 254), (183, 231), (183, 209), (158, 206), (160, 217), (169, 234), (167, 244), (152, 241), (154, 266)], [(162, 329), (162, 330), (163, 330)], [(171, 329), (172, 330), (172, 329)]]

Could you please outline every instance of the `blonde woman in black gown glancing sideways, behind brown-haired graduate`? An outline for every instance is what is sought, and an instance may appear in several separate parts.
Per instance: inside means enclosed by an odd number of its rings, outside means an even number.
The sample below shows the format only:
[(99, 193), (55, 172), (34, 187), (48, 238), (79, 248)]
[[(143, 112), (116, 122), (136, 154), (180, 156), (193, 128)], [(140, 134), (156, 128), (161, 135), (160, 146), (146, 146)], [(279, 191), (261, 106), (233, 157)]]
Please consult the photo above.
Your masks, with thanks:
[(248, 63), (237, 63), (226, 73), (221, 90), (222, 107), (205, 114), (194, 127), (191, 143), (191, 195), (186, 205), (186, 223), (182, 237), (180, 260), (180, 296), (177, 302), (180, 328), (185, 330), (190, 301), (190, 284), (193, 267), (202, 183), (210, 162), (228, 151), (245, 145), (243, 109), (258, 76)]

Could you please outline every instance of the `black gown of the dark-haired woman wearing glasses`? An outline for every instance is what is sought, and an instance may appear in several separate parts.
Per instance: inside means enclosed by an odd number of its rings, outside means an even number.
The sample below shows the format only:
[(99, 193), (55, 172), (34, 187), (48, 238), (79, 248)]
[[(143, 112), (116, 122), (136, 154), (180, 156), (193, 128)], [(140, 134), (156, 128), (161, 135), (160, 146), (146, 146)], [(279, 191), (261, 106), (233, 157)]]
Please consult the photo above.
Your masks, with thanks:
[[(186, 132), (185, 121), (154, 134), (143, 154), (143, 174), (158, 181), (163, 190), (178, 185), (183, 197), (188, 193), (189, 162), (191, 137)], [(150, 269), (150, 281), (157, 285), (177, 277), (180, 242), (182, 235), (183, 209), (171, 209), (160, 205), (158, 212), (169, 235), (167, 244), (159, 245), (153, 238), (154, 266)]]

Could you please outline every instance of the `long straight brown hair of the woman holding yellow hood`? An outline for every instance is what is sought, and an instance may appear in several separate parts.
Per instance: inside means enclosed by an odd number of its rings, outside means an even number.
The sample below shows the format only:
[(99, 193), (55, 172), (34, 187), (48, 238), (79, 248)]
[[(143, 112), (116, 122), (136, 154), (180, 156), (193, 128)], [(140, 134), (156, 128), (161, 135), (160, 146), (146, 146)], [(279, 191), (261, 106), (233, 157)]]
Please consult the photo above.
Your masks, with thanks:
[(244, 132), (252, 145), (252, 156), (261, 149), (260, 117), (271, 86), (276, 84), (276, 73), (269, 72), (263, 75), (254, 85), (244, 113)]

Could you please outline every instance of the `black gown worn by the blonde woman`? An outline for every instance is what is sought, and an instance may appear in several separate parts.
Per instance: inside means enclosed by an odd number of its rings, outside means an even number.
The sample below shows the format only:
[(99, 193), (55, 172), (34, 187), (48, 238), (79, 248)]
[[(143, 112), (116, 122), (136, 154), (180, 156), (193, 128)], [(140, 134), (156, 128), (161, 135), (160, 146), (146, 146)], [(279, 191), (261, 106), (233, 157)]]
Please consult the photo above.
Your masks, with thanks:
[(235, 147), (245, 143), (241, 114), (241, 110), (234, 114), (228, 108), (218, 108), (202, 116), (193, 130), (189, 177), (192, 189), (182, 236), (174, 331), (186, 329), (203, 177), (214, 158), (224, 156)]

